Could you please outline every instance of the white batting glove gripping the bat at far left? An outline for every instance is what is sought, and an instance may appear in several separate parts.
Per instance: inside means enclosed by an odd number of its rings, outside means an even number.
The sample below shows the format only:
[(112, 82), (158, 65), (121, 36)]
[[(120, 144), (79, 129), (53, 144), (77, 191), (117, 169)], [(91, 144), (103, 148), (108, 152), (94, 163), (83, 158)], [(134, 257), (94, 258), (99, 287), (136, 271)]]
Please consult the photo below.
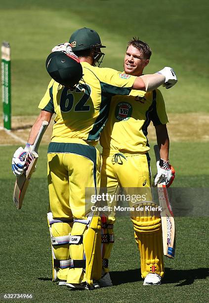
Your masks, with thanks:
[[(12, 158), (12, 171), (13, 174), (18, 177), (24, 173), (24, 171), (28, 168), (28, 160), (30, 161), (30, 150), (32, 145), (27, 143), (25, 148), (19, 147)], [(26, 161), (27, 160), (27, 161)]]

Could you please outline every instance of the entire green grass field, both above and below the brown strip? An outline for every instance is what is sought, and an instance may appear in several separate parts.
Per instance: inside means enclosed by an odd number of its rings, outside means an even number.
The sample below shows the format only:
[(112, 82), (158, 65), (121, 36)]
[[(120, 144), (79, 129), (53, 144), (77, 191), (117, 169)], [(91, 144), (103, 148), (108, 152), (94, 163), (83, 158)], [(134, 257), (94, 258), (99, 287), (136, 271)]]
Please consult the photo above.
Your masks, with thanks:
[[(98, 31), (107, 46), (104, 67), (123, 70), (126, 42), (139, 36), (153, 50), (145, 72), (155, 72), (167, 65), (174, 68), (178, 84), (171, 90), (161, 89), (168, 114), (209, 113), (208, 1), (0, 0), (0, 7), (0, 42), (9, 41), (12, 51), (12, 115), (39, 113), (37, 106), (49, 81), (45, 58), (54, 45), (67, 41), (74, 30), (84, 26)], [(190, 138), (192, 132), (191, 129)], [(209, 142), (172, 142), (172, 138), (170, 141), (170, 162), (176, 170), (173, 187), (185, 188), (188, 193), (191, 188), (200, 193), (202, 188), (209, 193)], [(15, 177), (11, 158), (16, 148), (16, 145), (0, 146), (0, 302), (5, 293), (33, 294), (34, 302), (40, 303), (209, 301), (207, 212), (202, 216), (197, 216), (198, 213), (183, 216), (182, 212), (182, 216), (175, 218), (176, 257), (165, 259), (166, 275), (160, 287), (142, 285), (128, 217), (118, 218), (115, 224), (116, 240), (110, 263), (113, 287), (70, 292), (53, 284), (46, 222), (47, 146), (40, 147), (37, 172), (19, 211), (12, 202)], [(151, 167), (155, 173), (154, 160)], [(197, 201), (195, 197), (191, 197), (193, 205), (207, 205), (201, 197)]]

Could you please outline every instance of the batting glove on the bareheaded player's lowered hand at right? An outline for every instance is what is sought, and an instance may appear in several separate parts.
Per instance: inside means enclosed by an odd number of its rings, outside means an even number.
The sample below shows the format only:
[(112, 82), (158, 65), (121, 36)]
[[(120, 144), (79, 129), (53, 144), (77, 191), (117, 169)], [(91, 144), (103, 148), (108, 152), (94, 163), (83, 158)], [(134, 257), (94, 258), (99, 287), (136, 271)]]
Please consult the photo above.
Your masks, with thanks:
[(154, 176), (153, 186), (156, 187), (158, 184), (165, 182), (166, 187), (169, 187), (175, 178), (174, 168), (169, 164), (169, 161), (160, 159), (160, 161), (157, 161), (157, 169), (158, 173)]

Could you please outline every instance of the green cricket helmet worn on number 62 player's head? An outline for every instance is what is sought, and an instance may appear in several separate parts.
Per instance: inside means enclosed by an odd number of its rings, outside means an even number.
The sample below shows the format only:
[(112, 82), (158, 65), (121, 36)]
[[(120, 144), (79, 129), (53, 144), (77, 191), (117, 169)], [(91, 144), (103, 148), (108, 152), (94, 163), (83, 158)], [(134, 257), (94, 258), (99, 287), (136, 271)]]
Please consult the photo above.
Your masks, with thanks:
[(106, 47), (102, 45), (96, 31), (86, 27), (80, 28), (71, 35), (69, 43), (73, 52), (90, 49), (93, 52), (94, 62), (98, 62), (99, 65), (102, 62), (102, 60), (99, 62), (99, 59), (104, 57), (104, 53), (100, 49)]

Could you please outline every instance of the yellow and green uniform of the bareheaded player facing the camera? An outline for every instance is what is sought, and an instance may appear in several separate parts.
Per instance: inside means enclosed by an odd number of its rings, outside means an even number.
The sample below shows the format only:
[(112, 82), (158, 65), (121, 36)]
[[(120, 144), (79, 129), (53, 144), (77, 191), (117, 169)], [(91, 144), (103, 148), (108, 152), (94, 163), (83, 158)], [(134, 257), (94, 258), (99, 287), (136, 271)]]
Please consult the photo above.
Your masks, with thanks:
[[(103, 147), (101, 188), (107, 187), (108, 193), (112, 195), (117, 193), (119, 187), (125, 188), (126, 194), (128, 191), (133, 193), (133, 188), (141, 188), (147, 194), (147, 203), (152, 203), (152, 193), (148, 190), (151, 185), (148, 154), (150, 148), (147, 140), (147, 128), (151, 121), (154, 126), (168, 122), (164, 99), (159, 90), (149, 93), (132, 90), (129, 96), (112, 98), (109, 118), (100, 138), (100, 144)], [(153, 223), (153, 218), (156, 216), (158, 220)], [(161, 220), (158, 216), (158, 214), (150, 215), (150, 213), (144, 216), (131, 214), (135, 239), (141, 254), (143, 278), (153, 270), (162, 276), (164, 274), (162, 240), (159, 240), (161, 239)], [(115, 217), (111, 214), (107, 223), (114, 221)], [(110, 229), (109, 233), (113, 234), (113, 231)], [(160, 241), (157, 248), (151, 240), (152, 237), (157, 237)], [(145, 258), (146, 253), (142, 251), (142, 247), (148, 252)], [(103, 246), (105, 259), (109, 258), (111, 249), (112, 244)]]

